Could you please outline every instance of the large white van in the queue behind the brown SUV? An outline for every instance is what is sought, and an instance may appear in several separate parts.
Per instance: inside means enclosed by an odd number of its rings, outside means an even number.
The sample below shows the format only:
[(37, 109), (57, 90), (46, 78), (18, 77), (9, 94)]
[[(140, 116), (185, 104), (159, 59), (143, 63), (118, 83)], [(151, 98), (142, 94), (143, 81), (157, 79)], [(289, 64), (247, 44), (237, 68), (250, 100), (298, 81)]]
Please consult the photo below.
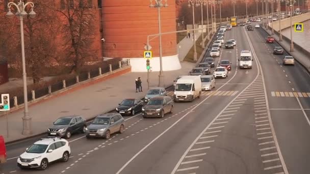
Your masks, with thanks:
[(201, 79), (198, 75), (183, 76), (176, 81), (174, 101), (193, 101), (201, 94)]

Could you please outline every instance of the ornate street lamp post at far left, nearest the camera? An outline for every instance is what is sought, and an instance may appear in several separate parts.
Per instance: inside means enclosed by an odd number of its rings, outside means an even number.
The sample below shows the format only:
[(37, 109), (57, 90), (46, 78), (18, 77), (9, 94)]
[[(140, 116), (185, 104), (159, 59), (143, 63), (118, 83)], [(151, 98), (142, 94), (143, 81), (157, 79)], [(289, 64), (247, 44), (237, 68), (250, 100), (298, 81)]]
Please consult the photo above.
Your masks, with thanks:
[[(25, 8), (30, 6), (31, 11), (27, 13)], [(16, 7), (17, 12), (12, 13), (12, 8)], [(21, 0), (18, 4), (10, 2), (8, 3), (9, 12), (7, 13), (8, 18), (14, 17), (14, 15), (19, 17), (20, 21), (20, 38), (21, 38), (21, 61), (22, 61), (22, 83), (23, 83), (23, 101), (24, 101), (24, 115), (22, 118), (22, 134), (30, 135), (32, 134), (32, 126), (31, 126), (31, 117), (28, 113), (28, 95), (27, 95), (27, 74), (26, 74), (26, 63), (25, 63), (25, 48), (24, 48), (24, 35), (23, 35), (23, 18), (29, 15), (31, 18), (36, 16), (36, 13), (33, 11), (34, 3), (28, 2), (24, 3)]]

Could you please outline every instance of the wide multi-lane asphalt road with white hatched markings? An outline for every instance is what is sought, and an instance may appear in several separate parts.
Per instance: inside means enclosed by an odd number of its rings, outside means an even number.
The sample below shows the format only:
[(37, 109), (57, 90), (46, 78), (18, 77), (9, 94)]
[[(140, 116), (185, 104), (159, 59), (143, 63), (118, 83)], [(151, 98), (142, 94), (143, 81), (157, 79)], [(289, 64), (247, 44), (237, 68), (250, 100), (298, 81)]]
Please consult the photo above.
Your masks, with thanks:
[[(0, 174), (308, 173), (310, 110), (301, 108), (310, 109), (310, 96), (273, 94), (310, 92), (310, 76), (298, 63), (278, 64), (282, 55), (269, 52), (274, 44), (265, 44), (266, 36), (261, 28), (246, 32), (242, 26), (225, 32), (224, 40), (236, 39), (237, 46), (222, 48), (215, 59), (216, 64), (228, 59), (232, 70), (227, 78), (216, 79), (213, 95), (175, 103), (174, 113), (163, 119), (125, 117), (124, 133), (109, 140), (73, 135), (70, 160), (45, 171), (16, 166), (15, 157), (39, 137), (11, 144)], [(237, 68), (241, 50), (252, 51), (252, 69)]]

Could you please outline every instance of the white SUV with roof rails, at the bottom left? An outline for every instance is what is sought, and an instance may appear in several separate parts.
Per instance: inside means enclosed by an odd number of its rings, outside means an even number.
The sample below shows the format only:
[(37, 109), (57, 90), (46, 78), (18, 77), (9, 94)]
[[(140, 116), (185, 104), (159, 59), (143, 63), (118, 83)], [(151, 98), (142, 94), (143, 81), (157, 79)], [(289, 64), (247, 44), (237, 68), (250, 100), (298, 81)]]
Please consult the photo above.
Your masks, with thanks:
[(40, 168), (45, 170), (48, 163), (61, 159), (69, 160), (71, 149), (69, 142), (61, 138), (41, 138), (32, 144), (17, 159), (20, 168)]

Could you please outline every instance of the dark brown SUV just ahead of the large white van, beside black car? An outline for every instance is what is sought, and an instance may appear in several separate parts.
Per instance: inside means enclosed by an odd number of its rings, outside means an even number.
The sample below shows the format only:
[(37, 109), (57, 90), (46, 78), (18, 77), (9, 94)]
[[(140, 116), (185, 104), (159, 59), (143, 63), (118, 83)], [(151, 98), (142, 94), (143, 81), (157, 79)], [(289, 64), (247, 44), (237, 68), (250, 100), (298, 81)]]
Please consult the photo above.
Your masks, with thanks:
[(142, 117), (161, 117), (166, 113), (173, 113), (174, 103), (169, 96), (153, 97), (142, 108)]

